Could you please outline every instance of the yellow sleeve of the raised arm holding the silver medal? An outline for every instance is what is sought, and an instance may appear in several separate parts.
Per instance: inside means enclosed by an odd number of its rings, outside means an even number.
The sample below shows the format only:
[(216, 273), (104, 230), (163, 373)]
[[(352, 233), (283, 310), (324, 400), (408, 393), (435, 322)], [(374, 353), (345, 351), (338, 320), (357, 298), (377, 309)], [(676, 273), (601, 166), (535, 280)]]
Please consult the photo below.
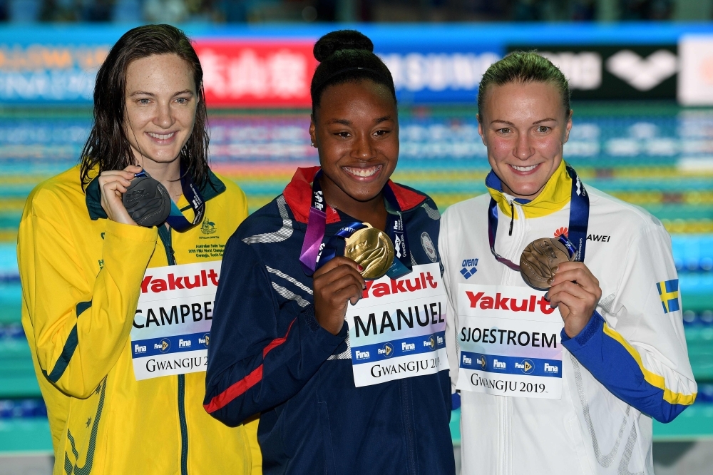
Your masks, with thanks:
[[(43, 374), (62, 392), (86, 398), (111, 370), (129, 336), (156, 228), (107, 221), (103, 267), (94, 279), (73, 240), (81, 219), (26, 210), (17, 256), (23, 299)], [(75, 228), (72, 228), (72, 224)], [(81, 230), (80, 230), (81, 232)]]

